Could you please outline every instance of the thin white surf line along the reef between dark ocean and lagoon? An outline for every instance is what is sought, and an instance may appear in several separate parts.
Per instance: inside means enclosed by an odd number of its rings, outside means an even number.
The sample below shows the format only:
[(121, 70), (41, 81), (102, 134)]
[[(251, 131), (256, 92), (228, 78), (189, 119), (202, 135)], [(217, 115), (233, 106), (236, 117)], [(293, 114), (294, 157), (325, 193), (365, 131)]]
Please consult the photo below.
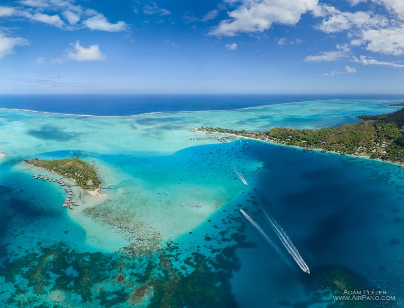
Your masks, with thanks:
[[(48, 112), (48, 111), (37, 111), (37, 110), (29, 110), (29, 109), (18, 109), (18, 108), (4, 108), (0, 107), (0, 110), (11, 110), (11, 111), (23, 111), (23, 112), (32, 112), (32, 113), (40, 113), (46, 115), (55, 115), (55, 116), (70, 116), (70, 117), (90, 117), (90, 118), (135, 118), (147, 115), (156, 115), (156, 114), (175, 114), (175, 113), (205, 113), (205, 112), (228, 112), (228, 111), (243, 111), (243, 110), (251, 110), (251, 109), (260, 109), (265, 107), (273, 107), (273, 106), (282, 106), (282, 105), (291, 105), (291, 104), (301, 104), (304, 102), (316, 102), (316, 101), (336, 101), (341, 100), (343, 98), (333, 98), (333, 99), (315, 99), (315, 100), (300, 100), (300, 101), (291, 101), (291, 102), (282, 102), (279, 104), (267, 104), (260, 106), (252, 106), (252, 107), (244, 107), (244, 108), (236, 108), (236, 109), (224, 109), (224, 110), (195, 110), (195, 111), (156, 111), (156, 112), (145, 112), (141, 114), (135, 115), (121, 115), (121, 116), (95, 116), (95, 115), (77, 115), (77, 114), (64, 114), (57, 112)], [(374, 100), (374, 99), (359, 99), (359, 100)], [(397, 101), (395, 99), (380, 99), (381, 101)], [(389, 106), (391, 108), (396, 108)]]

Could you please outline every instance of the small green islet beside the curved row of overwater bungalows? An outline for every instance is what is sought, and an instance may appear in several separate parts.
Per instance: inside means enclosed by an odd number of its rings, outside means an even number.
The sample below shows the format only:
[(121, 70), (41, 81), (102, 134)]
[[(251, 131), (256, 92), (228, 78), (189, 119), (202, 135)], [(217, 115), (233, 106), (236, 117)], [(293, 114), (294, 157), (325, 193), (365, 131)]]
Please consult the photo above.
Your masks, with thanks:
[(70, 178), (86, 190), (96, 190), (101, 186), (101, 180), (95, 169), (76, 158), (63, 160), (39, 160), (36, 158), (25, 162)]

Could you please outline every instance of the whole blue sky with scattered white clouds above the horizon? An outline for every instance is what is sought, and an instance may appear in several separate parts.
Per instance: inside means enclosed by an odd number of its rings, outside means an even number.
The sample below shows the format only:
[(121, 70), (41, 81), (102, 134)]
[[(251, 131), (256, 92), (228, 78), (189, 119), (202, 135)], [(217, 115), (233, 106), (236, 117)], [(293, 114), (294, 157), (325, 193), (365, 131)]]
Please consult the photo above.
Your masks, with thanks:
[(402, 0), (3, 0), (0, 93), (402, 93)]

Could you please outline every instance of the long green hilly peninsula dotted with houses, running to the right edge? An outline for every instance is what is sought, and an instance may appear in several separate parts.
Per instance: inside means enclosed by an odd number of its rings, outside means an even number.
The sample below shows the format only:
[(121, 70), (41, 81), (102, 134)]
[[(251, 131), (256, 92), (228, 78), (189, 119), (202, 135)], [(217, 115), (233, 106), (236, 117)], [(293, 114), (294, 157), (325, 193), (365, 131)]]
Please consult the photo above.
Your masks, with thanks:
[(395, 163), (404, 162), (404, 109), (393, 113), (357, 118), (360, 123), (322, 129), (274, 127), (268, 131), (199, 127), (193, 131), (224, 133), (303, 147), (305, 150), (333, 151)]

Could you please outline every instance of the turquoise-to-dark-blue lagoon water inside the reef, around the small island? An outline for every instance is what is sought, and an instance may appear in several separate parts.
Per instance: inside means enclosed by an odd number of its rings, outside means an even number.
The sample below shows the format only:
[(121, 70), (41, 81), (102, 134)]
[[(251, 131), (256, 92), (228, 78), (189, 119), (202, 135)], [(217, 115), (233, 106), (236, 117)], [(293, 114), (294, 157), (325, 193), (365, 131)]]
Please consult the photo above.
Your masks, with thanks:
[[(259, 141), (195, 141), (199, 126), (355, 123), (386, 100), (233, 111), (81, 117), (0, 110), (0, 303), (5, 307), (377, 307), (404, 305), (404, 176), (397, 166)], [(114, 190), (62, 209), (32, 158), (79, 157)], [(232, 164), (243, 174), (245, 186)], [(44, 172), (51, 176), (48, 172)], [(56, 175), (53, 175), (56, 177)], [(269, 246), (260, 204), (311, 269)], [(287, 263), (282, 261), (287, 260)], [(338, 301), (347, 289), (394, 300)]]

